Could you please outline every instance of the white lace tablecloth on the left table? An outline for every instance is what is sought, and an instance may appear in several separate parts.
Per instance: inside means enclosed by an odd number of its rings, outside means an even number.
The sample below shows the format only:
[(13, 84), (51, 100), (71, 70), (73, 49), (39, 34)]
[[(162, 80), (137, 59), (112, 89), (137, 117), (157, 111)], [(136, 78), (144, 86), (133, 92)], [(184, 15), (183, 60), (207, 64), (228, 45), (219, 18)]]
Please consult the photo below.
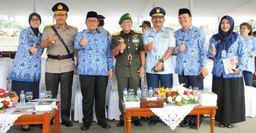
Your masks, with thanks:
[[(26, 104), (26, 107), (35, 107), (36, 102), (31, 102), (31, 104)], [(24, 107), (20, 103), (17, 104), (17, 108)], [(12, 112), (15, 108), (7, 109), (5, 113), (0, 114), (0, 133), (6, 133), (7, 130), (13, 125), (13, 123), (20, 117), (21, 115), (13, 115)]]

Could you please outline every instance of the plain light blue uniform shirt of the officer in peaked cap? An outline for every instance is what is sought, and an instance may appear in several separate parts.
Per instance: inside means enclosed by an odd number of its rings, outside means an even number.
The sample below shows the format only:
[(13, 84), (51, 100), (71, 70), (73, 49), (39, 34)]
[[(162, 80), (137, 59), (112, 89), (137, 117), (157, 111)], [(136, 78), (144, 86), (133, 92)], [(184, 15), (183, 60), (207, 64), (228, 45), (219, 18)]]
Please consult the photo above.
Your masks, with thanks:
[[(175, 35), (174, 30), (167, 27), (162, 27), (161, 30), (157, 33), (153, 28), (147, 29), (143, 32), (143, 42), (148, 44), (153, 40), (154, 48), (151, 51), (147, 51), (146, 57), (146, 69), (148, 73), (154, 73), (152, 67), (155, 67), (159, 62), (160, 58), (166, 54), (166, 51), (169, 47), (175, 47)], [(159, 58), (158, 58), (159, 57)], [(163, 63), (164, 71), (157, 72), (155, 74), (171, 74), (175, 72), (174, 63), (172, 62), (172, 57), (170, 56)]]

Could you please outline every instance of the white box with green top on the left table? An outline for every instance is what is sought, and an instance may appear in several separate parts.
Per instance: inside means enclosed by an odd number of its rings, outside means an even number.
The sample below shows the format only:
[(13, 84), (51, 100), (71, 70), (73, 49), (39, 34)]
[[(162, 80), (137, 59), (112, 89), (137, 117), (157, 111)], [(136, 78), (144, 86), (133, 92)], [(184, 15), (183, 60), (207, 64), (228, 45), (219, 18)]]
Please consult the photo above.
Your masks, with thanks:
[(56, 101), (38, 101), (35, 105), (35, 111), (52, 111), (56, 106)]

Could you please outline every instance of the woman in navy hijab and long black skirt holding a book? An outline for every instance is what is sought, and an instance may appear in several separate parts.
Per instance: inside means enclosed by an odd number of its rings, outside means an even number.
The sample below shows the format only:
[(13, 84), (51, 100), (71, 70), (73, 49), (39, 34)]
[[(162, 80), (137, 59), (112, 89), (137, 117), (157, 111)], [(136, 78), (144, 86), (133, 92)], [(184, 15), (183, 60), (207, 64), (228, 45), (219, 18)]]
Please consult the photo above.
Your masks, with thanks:
[[(235, 123), (245, 121), (244, 81), (242, 71), (247, 63), (244, 38), (233, 32), (234, 20), (221, 18), (218, 34), (210, 39), (208, 55), (214, 58), (212, 69), (212, 92), (218, 95), (215, 121), (220, 127), (233, 128)], [(238, 57), (238, 67), (226, 73), (223, 59)]]

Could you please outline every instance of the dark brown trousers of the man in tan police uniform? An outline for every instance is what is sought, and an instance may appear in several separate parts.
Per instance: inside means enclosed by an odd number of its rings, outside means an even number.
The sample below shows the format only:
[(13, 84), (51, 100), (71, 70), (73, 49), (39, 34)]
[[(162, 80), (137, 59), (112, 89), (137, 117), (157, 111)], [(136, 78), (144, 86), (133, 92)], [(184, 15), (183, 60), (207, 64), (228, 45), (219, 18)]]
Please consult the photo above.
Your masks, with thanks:
[(57, 98), (58, 84), (61, 82), (61, 119), (62, 121), (70, 120), (70, 107), (72, 97), (73, 73), (49, 73), (45, 72), (46, 90), (52, 91), (52, 98)]

